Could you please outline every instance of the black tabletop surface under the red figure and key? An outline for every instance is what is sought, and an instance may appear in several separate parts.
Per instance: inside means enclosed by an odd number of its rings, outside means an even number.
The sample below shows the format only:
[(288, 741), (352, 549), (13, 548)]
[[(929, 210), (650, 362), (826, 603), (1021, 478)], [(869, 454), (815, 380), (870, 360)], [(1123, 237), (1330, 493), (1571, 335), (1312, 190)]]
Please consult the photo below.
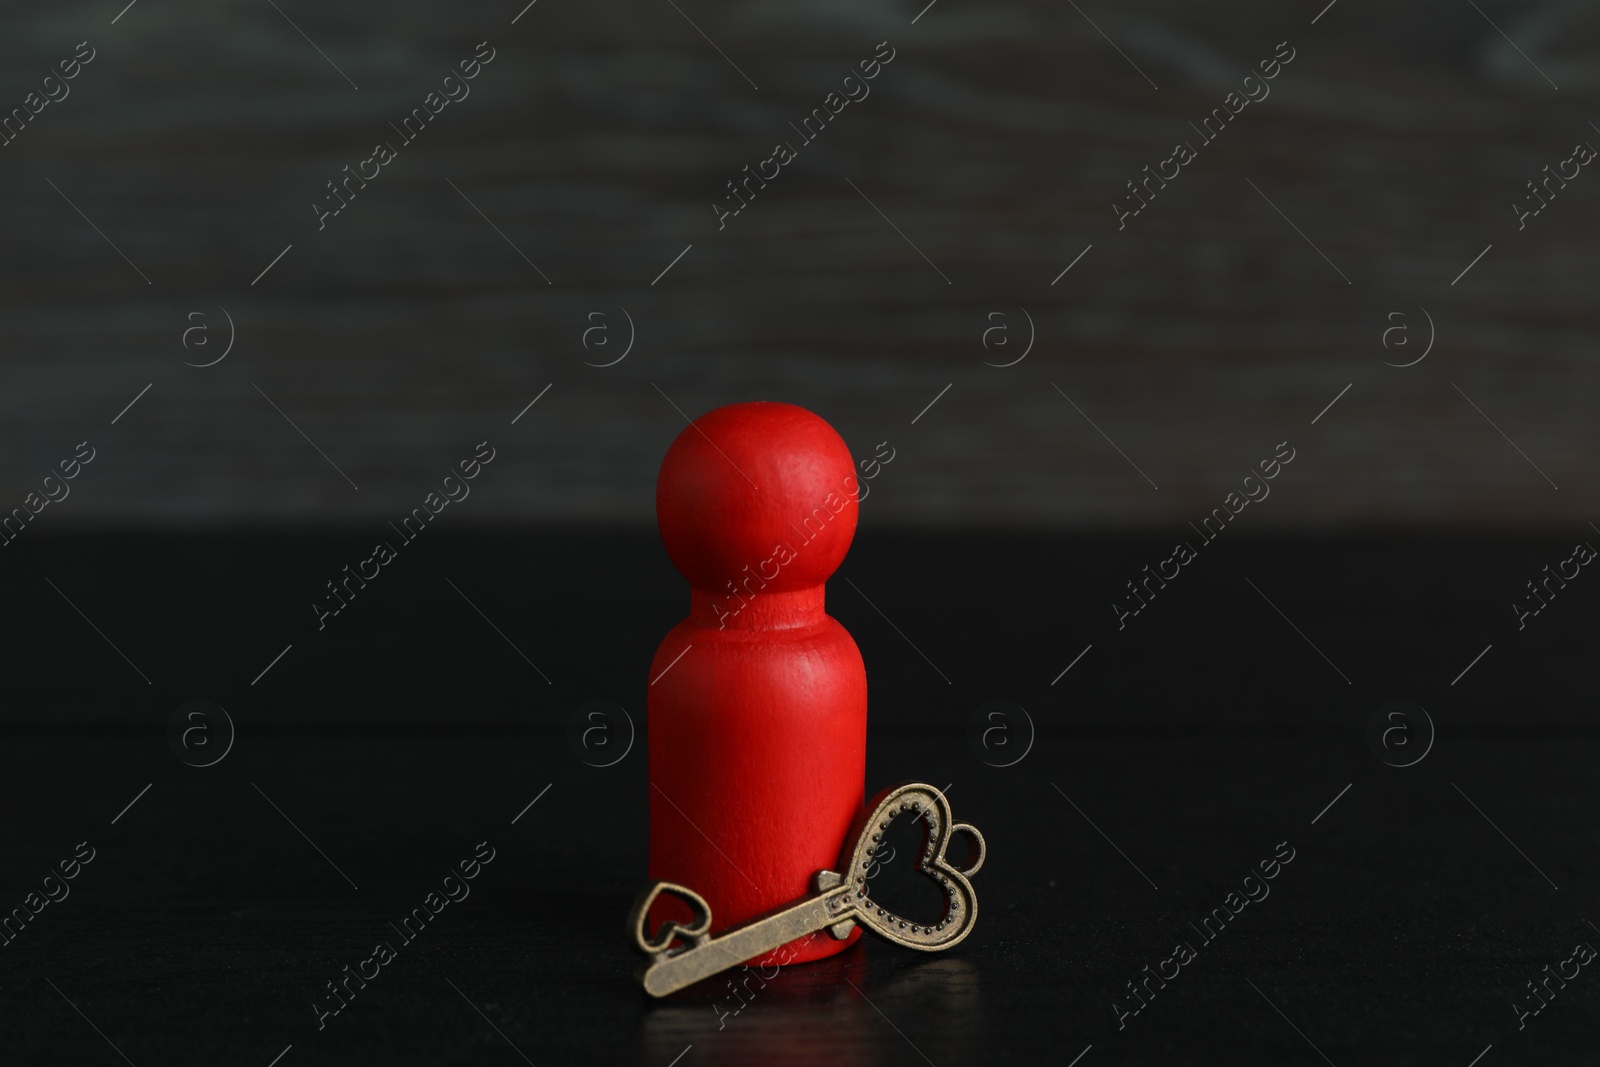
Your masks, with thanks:
[[(0, 744), (0, 904), (80, 843), (93, 859), (0, 949), (0, 1061), (1587, 1064), (1590, 968), (1523, 1029), (1514, 1009), (1600, 945), (1594, 600), (1574, 584), (1565, 616), (1517, 633), (1493, 598), (1557, 544), (1242, 541), (1117, 632), (1085, 590), (1139, 539), (864, 533), (845, 573), (931, 661), (835, 589), (872, 685), (869, 777), (949, 785), (984, 829), (978, 929), (939, 957), (867, 941), (742, 1000), (712, 981), (656, 1003), (622, 917), (645, 873), (643, 672), (685, 597), (648, 534), (438, 541), (342, 635), (298, 603), (341, 537), (40, 542), (5, 577), (34, 622)], [(194, 697), (237, 726), (206, 768), (165, 733)], [(1434, 725), (1410, 768), (1368, 744), (1390, 697)], [(586, 699), (640, 728), (613, 766), (568, 741)], [(1013, 766), (970, 742), (986, 699), (1034, 723)], [(323, 1016), (381, 941), (395, 958)], [(1152, 973), (1141, 1008), (1128, 984)]]

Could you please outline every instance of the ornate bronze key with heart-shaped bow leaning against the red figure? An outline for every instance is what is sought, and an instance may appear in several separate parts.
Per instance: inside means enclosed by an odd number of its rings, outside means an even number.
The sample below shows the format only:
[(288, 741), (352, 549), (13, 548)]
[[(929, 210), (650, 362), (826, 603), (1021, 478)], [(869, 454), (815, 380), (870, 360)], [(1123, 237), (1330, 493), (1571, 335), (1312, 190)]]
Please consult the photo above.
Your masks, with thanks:
[[(946, 897), (944, 913), (936, 923), (907, 920), (867, 894), (874, 853), (890, 822), (901, 814), (910, 814), (923, 824), (917, 867), (939, 883)], [(965, 867), (955, 867), (946, 859), (952, 833), (962, 833), (970, 841)], [(842, 870), (816, 872), (816, 893), (715, 937), (710, 936), (710, 905), (706, 897), (670, 881), (650, 883), (634, 901), (627, 918), (634, 945), (648, 957), (638, 971), (645, 992), (666, 997), (821, 929), (843, 939), (859, 923), (880, 937), (922, 952), (942, 952), (973, 931), (978, 921), (978, 894), (973, 893), (970, 878), (984, 865), (984, 835), (978, 827), (950, 817), (950, 801), (942, 792), (922, 782), (885, 789), (856, 819), (854, 832), (845, 845), (848, 851), (840, 856)], [(688, 925), (666, 921), (651, 937), (645, 923), (651, 904), (661, 896), (683, 901), (693, 918)]]

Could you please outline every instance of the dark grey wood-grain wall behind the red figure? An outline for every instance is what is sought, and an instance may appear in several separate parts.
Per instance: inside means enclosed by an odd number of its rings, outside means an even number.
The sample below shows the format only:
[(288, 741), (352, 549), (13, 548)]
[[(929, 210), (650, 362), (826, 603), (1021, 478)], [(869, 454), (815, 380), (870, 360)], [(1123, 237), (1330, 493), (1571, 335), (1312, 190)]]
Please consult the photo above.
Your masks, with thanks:
[[(1592, 5), (278, 6), (3, 16), (3, 107), (96, 48), (0, 149), (5, 507), (88, 438), (40, 523), (371, 523), (490, 438), (480, 520), (646, 525), (683, 426), (654, 382), (688, 414), (803, 405), (856, 456), (890, 440), (870, 522), (1166, 530), (1282, 440), (1307, 459), (1258, 528), (1595, 512), (1600, 178), (1523, 230), (1510, 206), (1600, 144)], [(325, 182), (485, 40), (470, 96), (318, 232)], [(1118, 230), (1125, 182), (1285, 40), (1270, 96)], [(880, 42), (870, 96), (798, 144)], [(779, 141), (797, 158), (718, 229)], [(216, 338), (224, 307), (234, 352), (184, 366), (187, 315)], [(1424, 307), (1430, 357), (1384, 366), (1387, 315), (1421, 342)], [(621, 309), (632, 352), (586, 366)], [(986, 366), (1021, 309), (1032, 352)]]

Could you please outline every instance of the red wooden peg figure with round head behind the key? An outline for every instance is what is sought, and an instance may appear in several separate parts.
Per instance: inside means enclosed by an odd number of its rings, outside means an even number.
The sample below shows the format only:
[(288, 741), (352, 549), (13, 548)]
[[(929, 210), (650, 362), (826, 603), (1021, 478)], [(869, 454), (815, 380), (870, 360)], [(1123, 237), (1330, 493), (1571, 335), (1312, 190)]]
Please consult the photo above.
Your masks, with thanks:
[(867, 672), (822, 590), (861, 491), (834, 427), (787, 403), (709, 411), (661, 462), (661, 539), (691, 589), (650, 665), (650, 878), (704, 896), (714, 929), (811, 893), (866, 801)]

